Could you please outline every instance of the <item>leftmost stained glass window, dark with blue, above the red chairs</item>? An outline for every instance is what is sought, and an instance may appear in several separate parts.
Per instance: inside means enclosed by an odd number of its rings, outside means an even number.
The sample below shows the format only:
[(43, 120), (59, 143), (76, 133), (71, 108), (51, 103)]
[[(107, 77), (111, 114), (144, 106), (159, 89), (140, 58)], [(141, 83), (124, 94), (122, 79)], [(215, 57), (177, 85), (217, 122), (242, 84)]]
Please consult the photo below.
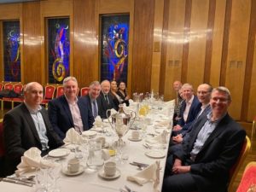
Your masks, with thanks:
[(20, 21), (3, 21), (4, 81), (20, 82)]

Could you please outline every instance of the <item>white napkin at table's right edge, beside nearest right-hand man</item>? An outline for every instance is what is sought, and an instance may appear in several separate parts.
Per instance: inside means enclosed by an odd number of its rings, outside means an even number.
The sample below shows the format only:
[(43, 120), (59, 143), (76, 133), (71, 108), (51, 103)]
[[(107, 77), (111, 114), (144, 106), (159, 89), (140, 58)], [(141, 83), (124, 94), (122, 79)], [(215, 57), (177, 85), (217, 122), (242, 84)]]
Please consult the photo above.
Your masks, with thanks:
[(157, 188), (160, 183), (160, 161), (156, 160), (154, 164), (143, 169), (141, 172), (137, 172), (134, 176), (127, 176), (127, 180), (139, 185), (153, 181), (154, 189)]

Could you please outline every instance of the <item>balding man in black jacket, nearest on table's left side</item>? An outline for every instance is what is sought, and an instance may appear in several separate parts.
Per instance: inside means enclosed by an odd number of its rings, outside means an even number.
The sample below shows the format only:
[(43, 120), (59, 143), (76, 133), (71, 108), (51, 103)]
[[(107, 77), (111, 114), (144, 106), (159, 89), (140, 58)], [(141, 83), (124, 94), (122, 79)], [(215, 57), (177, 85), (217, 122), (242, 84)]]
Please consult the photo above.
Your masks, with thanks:
[(41, 84), (26, 84), (24, 102), (4, 115), (3, 141), (7, 175), (15, 172), (20, 157), (27, 149), (37, 147), (44, 155), (49, 149), (64, 144), (50, 125), (47, 111), (40, 106), (43, 95)]

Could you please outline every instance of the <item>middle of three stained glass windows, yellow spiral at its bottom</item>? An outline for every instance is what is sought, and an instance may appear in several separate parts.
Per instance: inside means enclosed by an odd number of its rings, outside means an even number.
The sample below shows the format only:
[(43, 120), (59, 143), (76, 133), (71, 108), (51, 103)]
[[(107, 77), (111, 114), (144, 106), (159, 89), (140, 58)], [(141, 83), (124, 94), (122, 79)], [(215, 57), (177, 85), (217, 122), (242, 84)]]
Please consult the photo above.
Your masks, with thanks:
[(69, 18), (48, 19), (48, 82), (61, 84), (69, 76)]

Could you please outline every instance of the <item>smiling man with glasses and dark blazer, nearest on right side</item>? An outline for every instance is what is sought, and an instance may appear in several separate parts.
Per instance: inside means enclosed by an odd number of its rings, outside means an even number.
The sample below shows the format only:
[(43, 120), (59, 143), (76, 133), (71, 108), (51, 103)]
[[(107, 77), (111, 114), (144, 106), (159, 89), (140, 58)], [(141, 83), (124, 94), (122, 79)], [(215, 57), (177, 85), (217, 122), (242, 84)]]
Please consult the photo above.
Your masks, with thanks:
[(230, 168), (246, 137), (246, 131), (227, 112), (230, 103), (227, 88), (212, 90), (212, 113), (196, 122), (189, 142), (169, 157), (172, 165), (166, 165), (163, 192), (227, 191)]

